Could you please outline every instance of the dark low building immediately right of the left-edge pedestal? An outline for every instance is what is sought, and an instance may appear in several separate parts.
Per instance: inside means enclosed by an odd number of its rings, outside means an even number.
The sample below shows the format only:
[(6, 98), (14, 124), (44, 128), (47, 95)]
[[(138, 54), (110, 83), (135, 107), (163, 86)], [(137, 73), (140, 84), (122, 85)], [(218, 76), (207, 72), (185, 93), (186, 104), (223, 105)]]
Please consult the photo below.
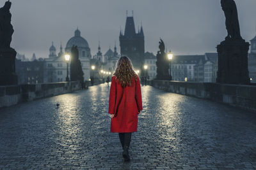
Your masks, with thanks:
[(15, 60), (16, 74), (19, 84), (44, 83), (44, 60)]

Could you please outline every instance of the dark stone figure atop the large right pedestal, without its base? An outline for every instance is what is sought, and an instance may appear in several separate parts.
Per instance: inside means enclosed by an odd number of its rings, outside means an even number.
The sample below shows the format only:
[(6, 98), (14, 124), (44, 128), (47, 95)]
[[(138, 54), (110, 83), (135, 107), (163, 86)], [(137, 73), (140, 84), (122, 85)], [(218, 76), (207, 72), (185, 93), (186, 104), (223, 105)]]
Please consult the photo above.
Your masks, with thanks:
[(234, 0), (221, 0), (221, 7), (226, 17), (228, 36), (225, 39), (242, 39), (239, 28), (236, 3)]

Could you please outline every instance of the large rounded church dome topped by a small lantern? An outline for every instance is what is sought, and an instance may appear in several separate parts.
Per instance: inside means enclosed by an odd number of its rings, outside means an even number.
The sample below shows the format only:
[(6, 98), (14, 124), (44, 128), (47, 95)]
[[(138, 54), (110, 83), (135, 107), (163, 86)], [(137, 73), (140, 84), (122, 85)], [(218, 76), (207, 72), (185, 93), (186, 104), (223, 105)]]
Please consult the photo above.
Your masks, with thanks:
[(72, 48), (73, 45), (77, 46), (77, 48), (89, 48), (86, 39), (81, 37), (79, 29), (75, 31), (75, 36), (68, 40), (66, 48)]

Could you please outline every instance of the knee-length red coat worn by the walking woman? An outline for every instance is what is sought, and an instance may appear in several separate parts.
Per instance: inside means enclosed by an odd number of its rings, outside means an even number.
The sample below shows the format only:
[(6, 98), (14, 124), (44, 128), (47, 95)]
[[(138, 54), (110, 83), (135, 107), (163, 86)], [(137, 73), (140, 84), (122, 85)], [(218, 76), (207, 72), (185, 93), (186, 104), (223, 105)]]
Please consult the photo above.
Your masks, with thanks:
[(138, 113), (142, 110), (140, 79), (132, 79), (131, 86), (122, 87), (115, 76), (111, 78), (108, 113), (111, 118), (111, 132), (136, 132)]

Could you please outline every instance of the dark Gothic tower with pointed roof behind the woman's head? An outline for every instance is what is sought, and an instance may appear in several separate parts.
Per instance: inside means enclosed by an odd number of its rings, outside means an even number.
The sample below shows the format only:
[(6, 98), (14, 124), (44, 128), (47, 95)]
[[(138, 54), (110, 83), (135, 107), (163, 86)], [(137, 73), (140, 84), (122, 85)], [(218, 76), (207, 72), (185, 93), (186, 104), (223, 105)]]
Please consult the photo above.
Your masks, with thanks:
[(144, 32), (142, 25), (140, 30), (138, 30), (138, 33), (136, 33), (133, 17), (127, 17), (124, 34), (122, 31), (120, 31), (119, 40), (121, 56), (125, 55), (129, 57), (133, 66), (136, 69), (141, 69), (144, 63), (145, 53)]

